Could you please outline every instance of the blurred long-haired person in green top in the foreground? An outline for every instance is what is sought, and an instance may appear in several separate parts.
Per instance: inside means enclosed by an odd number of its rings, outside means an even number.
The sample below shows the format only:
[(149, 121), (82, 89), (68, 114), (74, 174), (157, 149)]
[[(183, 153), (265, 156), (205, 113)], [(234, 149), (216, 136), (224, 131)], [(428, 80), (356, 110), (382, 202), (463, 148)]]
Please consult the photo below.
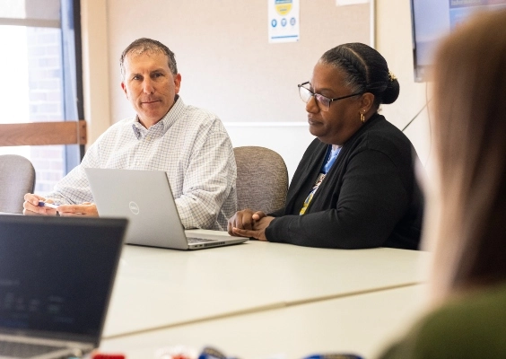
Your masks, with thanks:
[(432, 311), (381, 358), (505, 358), (506, 11), (443, 40), (433, 76)]

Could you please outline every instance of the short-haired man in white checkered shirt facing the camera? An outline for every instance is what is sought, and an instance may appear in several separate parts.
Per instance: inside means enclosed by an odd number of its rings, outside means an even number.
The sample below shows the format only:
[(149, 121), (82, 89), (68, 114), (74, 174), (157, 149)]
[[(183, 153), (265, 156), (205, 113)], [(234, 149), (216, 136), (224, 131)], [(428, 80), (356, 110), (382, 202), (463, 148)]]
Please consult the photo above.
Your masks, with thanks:
[(23, 213), (98, 215), (84, 168), (166, 171), (185, 228), (226, 230), (236, 211), (236, 164), (222, 122), (182, 101), (176, 59), (161, 42), (136, 39), (120, 68), (135, 118), (109, 127), (47, 197), (25, 195)]

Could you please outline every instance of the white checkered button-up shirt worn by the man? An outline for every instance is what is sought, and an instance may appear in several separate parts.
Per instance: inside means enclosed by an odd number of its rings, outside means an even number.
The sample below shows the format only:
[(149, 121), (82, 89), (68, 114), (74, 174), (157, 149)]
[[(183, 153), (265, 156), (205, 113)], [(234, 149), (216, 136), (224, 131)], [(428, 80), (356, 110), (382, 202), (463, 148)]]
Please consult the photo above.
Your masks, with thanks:
[(185, 228), (226, 230), (236, 211), (231, 140), (219, 118), (180, 97), (149, 129), (136, 117), (109, 127), (47, 197), (57, 204), (93, 202), (87, 167), (166, 171)]

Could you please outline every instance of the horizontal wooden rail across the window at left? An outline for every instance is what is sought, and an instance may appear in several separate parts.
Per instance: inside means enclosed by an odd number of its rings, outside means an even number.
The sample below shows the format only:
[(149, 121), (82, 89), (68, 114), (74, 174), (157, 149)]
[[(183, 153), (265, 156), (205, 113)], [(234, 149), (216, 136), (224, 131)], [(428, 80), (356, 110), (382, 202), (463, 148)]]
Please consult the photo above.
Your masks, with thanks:
[(0, 124), (0, 146), (86, 144), (86, 121)]

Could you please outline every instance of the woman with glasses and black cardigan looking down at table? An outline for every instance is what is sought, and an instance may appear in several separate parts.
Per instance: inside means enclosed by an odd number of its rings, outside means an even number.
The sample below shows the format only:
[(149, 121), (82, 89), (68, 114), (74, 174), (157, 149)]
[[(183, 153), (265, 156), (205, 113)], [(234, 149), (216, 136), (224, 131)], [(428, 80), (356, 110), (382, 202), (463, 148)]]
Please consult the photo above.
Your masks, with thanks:
[(317, 138), (293, 175), (286, 206), (242, 210), (229, 233), (308, 247), (415, 250), (423, 213), (416, 153), (378, 113), (399, 83), (379, 52), (361, 43), (328, 50), (299, 91)]

